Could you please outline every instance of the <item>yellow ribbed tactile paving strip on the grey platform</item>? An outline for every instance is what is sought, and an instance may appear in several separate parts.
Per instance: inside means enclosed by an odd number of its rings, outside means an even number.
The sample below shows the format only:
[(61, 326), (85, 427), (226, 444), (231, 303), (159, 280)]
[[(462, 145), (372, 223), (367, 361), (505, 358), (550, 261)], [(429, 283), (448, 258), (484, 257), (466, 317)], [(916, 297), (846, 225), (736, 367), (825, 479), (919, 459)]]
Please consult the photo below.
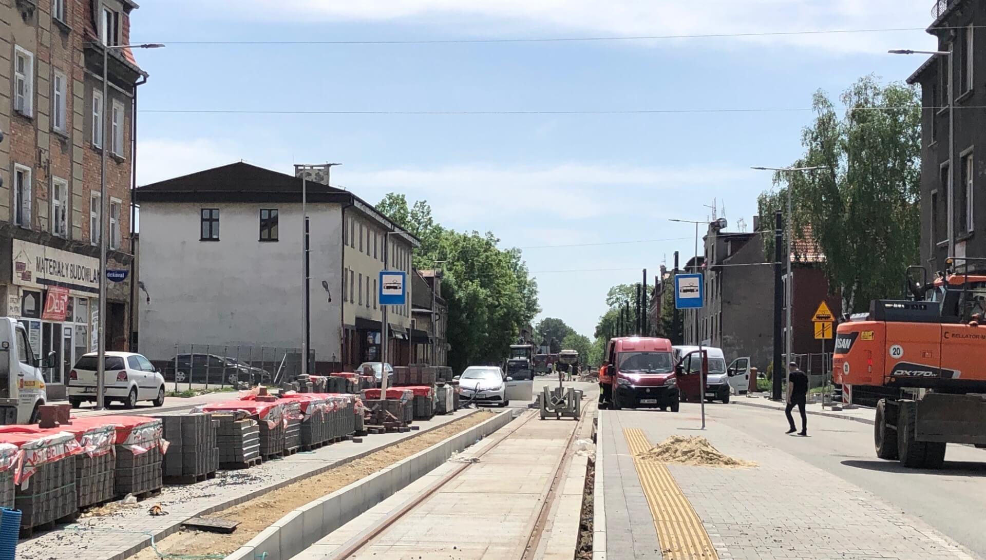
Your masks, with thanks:
[(647, 503), (651, 507), (654, 526), (658, 530), (661, 552), (665, 560), (718, 560), (719, 555), (702, 520), (671, 476), (663, 462), (639, 460), (653, 446), (644, 432), (637, 428), (623, 430), (626, 445), (640, 477)]

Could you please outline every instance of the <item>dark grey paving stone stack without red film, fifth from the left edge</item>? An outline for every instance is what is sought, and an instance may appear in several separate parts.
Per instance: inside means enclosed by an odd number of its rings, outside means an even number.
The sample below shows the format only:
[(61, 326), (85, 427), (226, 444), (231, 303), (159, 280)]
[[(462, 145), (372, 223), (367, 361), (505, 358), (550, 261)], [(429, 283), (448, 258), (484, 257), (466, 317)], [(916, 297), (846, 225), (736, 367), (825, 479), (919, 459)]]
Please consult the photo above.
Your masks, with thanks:
[(205, 412), (158, 418), (169, 444), (165, 454), (165, 481), (194, 484), (215, 477), (219, 469), (219, 420)]

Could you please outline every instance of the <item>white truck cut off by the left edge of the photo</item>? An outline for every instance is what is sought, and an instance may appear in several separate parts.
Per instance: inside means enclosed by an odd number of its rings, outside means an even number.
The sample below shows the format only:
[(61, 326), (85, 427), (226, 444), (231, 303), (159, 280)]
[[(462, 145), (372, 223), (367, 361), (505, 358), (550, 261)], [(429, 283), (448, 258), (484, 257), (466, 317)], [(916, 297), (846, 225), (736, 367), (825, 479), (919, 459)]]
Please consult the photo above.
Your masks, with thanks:
[(16, 318), (0, 316), (0, 424), (34, 424), (44, 404), (42, 368), (54, 367), (55, 353), (35, 357), (28, 330)]

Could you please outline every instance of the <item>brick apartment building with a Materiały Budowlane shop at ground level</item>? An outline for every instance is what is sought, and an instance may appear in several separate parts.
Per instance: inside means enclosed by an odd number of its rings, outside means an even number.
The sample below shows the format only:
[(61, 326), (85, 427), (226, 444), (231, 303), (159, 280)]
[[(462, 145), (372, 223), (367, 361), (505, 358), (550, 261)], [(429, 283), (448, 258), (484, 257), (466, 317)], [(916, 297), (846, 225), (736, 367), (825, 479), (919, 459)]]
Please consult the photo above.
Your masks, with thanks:
[[(96, 349), (101, 158), (109, 150), (108, 262), (129, 269), (137, 86), (127, 44), (130, 0), (0, 3), (0, 313), (21, 317), (38, 355), (55, 351), (50, 398), (75, 359)], [(107, 286), (106, 348), (129, 341), (129, 277)]]

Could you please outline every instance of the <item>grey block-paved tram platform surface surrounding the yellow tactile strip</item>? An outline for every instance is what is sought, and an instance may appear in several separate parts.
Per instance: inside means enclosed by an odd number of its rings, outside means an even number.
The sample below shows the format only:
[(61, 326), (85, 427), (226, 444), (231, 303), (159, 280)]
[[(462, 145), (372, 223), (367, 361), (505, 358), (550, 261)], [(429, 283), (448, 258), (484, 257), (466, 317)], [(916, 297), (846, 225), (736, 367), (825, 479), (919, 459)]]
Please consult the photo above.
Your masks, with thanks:
[[(666, 507), (649, 506), (629, 455), (624, 429), (643, 431), (650, 445), (671, 435), (707, 438), (726, 455), (756, 462), (744, 468), (667, 464), (701, 520), (720, 559), (973, 560), (972, 554), (924, 521), (810, 463), (714, 422), (696, 431), (694, 409), (662, 414), (603, 411), (603, 493), (610, 558), (656, 558), (675, 544), (655, 525)], [(620, 521), (629, 514), (633, 523)], [(658, 517), (659, 523), (646, 523)], [(623, 524), (627, 525), (623, 525)], [(666, 523), (667, 525), (667, 523)], [(661, 552), (659, 552), (661, 551)], [(657, 554), (655, 554), (657, 552)], [(703, 557), (707, 557), (703, 556)], [(677, 557), (677, 556), (674, 556)]]

